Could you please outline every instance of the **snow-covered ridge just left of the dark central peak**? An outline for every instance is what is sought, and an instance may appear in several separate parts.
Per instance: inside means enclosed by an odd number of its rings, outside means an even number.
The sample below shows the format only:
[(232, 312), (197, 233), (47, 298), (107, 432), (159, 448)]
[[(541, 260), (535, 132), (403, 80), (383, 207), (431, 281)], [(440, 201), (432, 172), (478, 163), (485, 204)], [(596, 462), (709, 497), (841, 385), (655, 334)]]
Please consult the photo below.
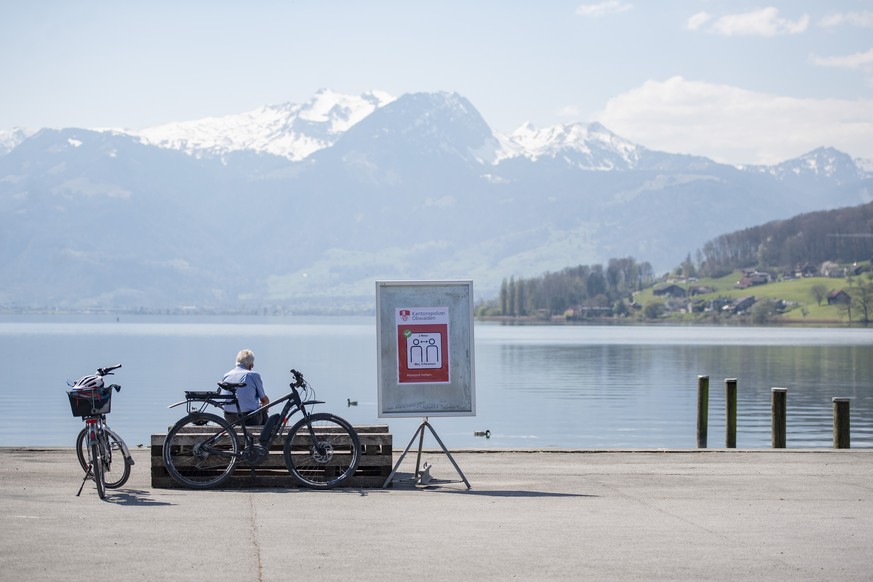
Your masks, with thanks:
[(134, 135), (195, 157), (254, 151), (298, 161), (330, 147), (350, 127), (393, 100), (378, 91), (352, 96), (322, 89), (301, 105), (268, 105), (238, 115), (160, 125)]

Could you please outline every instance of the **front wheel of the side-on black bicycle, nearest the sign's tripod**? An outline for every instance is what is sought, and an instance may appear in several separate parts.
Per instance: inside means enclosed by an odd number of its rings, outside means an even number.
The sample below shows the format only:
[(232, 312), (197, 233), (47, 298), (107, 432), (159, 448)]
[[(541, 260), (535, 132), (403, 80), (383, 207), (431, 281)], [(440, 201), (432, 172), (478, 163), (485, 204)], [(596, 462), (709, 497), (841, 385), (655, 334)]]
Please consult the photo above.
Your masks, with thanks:
[(285, 466), (302, 485), (311, 489), (333, 489), (357, 470), (361, 441), (347, 420), (320, 412), (300, 419), (291, 427), (285, 438), (284, 454)]

